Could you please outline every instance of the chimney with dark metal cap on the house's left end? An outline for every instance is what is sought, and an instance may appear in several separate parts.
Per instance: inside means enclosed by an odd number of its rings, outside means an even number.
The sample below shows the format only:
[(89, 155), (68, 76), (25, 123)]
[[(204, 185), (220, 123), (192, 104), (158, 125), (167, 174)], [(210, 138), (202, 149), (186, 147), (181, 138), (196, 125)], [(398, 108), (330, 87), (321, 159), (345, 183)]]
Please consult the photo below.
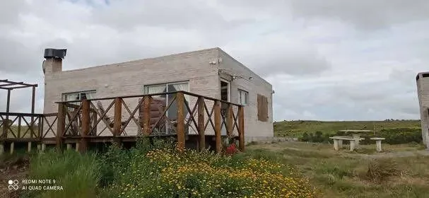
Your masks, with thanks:
[(45, 49), (45, 60), (42, 64), (43, 74), (53, 74), (62, 71), (62, 60), (66, 57), (66, 49)]

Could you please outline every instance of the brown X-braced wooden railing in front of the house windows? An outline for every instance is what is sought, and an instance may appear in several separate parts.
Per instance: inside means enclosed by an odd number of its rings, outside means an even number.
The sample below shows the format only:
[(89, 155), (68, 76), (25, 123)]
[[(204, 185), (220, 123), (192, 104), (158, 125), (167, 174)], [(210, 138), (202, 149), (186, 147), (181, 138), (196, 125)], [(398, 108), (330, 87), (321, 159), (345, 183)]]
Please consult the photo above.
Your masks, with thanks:
[[(66, 138), (79, 138), (79, 149), (86, 150), (88, 138), (112, 137), (120, 141), (121, 137), (141, 135), (176, 136), (178, 148), (182, 149), (186, 134), (196, 134), (199, 148), (206, 148), (206, 136), (213, 135), (216, 151), (221, 152), (225, 132), (225, 136), (238, 139), (239, 148), (244, 150), (244, 107), (216, 98), (177, 91), (57, 104), (59, 149)], [(157, 104), (163, 106), (162, 110)]]

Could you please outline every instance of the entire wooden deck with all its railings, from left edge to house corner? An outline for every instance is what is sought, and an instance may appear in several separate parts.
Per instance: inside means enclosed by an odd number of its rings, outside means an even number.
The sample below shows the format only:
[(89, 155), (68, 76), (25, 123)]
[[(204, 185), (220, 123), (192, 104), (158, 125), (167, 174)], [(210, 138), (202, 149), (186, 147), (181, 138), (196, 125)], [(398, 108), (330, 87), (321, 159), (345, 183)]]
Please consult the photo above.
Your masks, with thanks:
[[(157, 98), (169, 100), (160, 112), (151, 109)], [(58, 112), (52, 114), (0, 112), (0, 152), (6, 144), (13, 151), (13, 144), (23, 142), (41, 149), (54, 144), (59, 151), (74, 144), (84, 152), (90, 144), (125, 144), (139, 136), (172, 137), (181, 149), (189, 144), (208, 148), (213, 142), (217, 153), (223, 150), (226, 137), (237, 139), (240, 150), (245, 147), (244, 107), (203, 95), (177, 91), (61, 101), (57, 105)]]

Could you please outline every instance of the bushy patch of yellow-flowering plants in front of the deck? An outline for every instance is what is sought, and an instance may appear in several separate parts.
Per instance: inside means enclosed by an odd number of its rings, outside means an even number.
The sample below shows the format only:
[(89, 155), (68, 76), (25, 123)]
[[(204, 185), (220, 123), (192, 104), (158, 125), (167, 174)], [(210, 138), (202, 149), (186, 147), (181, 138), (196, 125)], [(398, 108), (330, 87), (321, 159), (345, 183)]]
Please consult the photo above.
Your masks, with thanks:
[[(110, 197), (315, 197), (307, 180), (283, 175), (283, 165), (244, 155), (221, 156), (160, 144), (131, 148), (127, 162), (113, 168)], [(115, 151), (110, 151), (105, 160)], [(108, 194), (108, 195), (106, 195)]]

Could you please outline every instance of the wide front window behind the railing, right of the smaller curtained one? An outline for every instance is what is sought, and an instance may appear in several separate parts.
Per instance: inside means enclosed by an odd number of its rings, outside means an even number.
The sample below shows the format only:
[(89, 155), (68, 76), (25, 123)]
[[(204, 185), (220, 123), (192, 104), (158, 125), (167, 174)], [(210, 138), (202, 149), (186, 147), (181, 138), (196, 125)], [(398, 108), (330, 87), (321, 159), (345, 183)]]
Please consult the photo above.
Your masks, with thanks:
[[(175, 92), (175, 91), (189, 91), (189, 82), (178, 82), (178, 83), (163, 83), (156, 85), (148, 85), (144, 86), (143, 93), (144, 94), (153, 94), (153, 93), (167, 93), (167, 92)], [(170, 103), (170, 100), (175, 98), (175, 94), (169, 94), (168, 97), (166, 95), (153, 95), (153, 98), (164, 98), (165, 105)], [(184, 95), (184, 99), (189, 103), (189, 95)], [(185, 113), (187, 113), (185, 107)], [(172, 103), (170, 108), (168, 108), (167, 116), (169, 119), (175, 120), (177, 119), (177, 105), (176, 103)]]

